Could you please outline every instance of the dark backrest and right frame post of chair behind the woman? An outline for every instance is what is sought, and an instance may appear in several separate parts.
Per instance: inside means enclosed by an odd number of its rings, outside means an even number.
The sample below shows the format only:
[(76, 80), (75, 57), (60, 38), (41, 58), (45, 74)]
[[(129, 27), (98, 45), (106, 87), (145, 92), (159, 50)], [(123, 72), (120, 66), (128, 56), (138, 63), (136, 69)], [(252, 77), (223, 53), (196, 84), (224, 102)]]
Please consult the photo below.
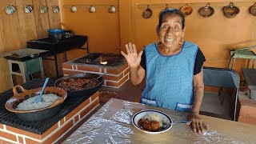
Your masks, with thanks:
[(239, 75), (231, 69), (203, 67), (203, 82), (205, 86), (217, 86), (224, 88), (234, 88), (236, 90), (234, 99), (234, 118), (235, 121), (238, 101), (238, 89), (240, 83)]

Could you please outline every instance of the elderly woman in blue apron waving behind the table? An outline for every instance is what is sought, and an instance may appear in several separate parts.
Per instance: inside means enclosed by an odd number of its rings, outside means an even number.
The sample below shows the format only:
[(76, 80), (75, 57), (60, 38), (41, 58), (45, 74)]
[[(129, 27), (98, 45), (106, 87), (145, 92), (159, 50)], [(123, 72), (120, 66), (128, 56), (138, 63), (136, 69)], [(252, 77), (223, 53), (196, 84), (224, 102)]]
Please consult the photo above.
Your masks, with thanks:
[(202, 51), (192, 42), (183, 42), (185, 18), (180, 10), (164, 10), (159, 17), (157, 34), (160, 42), (152, 43), (139, 54), (136, 46), (126, 45), (121, 52), (130, 66), (134, 85), (146, 74), (146, 88), (141, 102), (171, 110), (188, 111), (194, 132), (202, 134), (208, 126), (198, 117), (203, 97)]

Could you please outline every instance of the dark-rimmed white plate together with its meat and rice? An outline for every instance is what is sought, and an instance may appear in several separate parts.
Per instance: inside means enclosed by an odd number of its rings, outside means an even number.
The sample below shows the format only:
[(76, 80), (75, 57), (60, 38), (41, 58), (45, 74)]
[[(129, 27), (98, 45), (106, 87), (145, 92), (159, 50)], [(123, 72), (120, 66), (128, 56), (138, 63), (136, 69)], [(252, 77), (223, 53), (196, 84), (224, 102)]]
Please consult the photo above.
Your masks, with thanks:
[(170, 130), (172, 119), (158, 110), (142, 110), (134, 114), (133, 125), (148, 134), (160, 134)]

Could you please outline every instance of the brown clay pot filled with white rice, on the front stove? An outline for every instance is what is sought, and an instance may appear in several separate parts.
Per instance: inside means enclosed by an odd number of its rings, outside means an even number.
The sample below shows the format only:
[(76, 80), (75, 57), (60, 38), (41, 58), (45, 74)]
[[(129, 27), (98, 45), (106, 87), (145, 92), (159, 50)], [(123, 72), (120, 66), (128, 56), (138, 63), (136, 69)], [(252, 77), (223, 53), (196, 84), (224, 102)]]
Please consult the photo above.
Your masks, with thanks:
[[(17, 88), (22, 90), (17, 92)], [(62, 102), (65, 101), (67, 93), (65, 90), (54, 86), (46, 86), (42, 102), (35, 102), (42, 87), (26, 90), (22, 86), (14, 86), (14, 96), (7, 100), (6, 110), (15, 113), (18, 118), (26, 121), (39, 121), (50, 118), (60, 110)]]

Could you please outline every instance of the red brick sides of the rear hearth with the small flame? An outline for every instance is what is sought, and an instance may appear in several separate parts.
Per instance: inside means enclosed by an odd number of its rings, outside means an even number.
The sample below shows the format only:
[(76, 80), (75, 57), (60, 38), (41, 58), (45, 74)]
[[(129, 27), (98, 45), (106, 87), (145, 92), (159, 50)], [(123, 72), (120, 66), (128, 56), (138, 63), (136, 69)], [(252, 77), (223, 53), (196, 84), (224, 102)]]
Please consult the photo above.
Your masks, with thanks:
[(116, 67), (104, 67), (104, 66), (94, 66), (94, 65), (77, 65), (75, 63), (65, 62), (62, 64), (62, 70), (64, 76), (70, 74), (80, 74), (80, 73), (94, 73), (94, 74), (105, 74), (103, 76), (104, 83), (102, 86), (119, 88), (127, 80), (130, 79), (130, 68), (127, 63), (122, 66)]

